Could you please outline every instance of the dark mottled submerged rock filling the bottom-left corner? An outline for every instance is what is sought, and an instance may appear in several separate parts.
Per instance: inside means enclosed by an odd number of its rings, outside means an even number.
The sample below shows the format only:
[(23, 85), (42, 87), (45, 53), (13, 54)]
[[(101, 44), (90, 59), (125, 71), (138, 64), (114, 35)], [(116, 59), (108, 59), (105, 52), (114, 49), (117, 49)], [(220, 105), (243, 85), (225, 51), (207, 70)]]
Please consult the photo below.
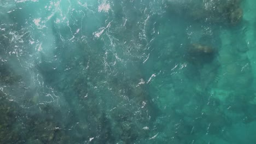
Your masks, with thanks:
[(24, 111), (9, 97), (0, 91), (0, 143), (70, 143), (56, 107), (40, 105)]

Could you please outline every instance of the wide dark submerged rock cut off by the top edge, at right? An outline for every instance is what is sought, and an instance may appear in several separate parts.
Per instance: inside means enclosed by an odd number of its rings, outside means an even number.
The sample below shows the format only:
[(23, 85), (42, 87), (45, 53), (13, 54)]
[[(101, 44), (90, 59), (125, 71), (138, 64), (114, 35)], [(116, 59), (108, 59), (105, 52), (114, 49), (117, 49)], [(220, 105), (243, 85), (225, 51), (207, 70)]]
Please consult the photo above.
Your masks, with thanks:
[(193, 20), (236, 25), (243, 17), (240, 3), (240, 0), (207, 0), (202, 2), (176, 2), (168, 0), (168, 9), (178, 14), (181, 14), (181, 11), (185, 11), (182, 14), (191, 17)]

